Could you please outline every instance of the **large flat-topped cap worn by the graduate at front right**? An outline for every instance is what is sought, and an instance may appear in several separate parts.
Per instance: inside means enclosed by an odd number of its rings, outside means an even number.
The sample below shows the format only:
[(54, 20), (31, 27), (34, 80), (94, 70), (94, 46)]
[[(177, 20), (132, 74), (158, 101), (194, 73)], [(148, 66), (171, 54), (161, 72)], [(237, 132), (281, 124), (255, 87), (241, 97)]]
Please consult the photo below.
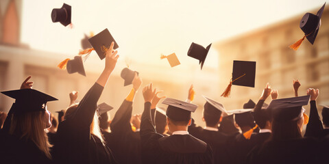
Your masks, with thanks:
[(272, 100), (267, 109), (276, 120), (289, 121), (302, 117), (302, 106), (308, 105), (310, 96), (298, 96), (292, 98), (280, 98)]

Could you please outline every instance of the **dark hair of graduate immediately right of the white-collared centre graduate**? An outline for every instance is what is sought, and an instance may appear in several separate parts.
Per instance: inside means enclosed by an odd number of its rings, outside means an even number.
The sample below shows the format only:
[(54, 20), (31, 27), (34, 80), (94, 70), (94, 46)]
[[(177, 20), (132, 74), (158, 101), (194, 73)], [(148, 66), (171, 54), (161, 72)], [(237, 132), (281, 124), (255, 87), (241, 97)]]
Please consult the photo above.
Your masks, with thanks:
[(206, 102), (204, 104), (204, 121), (206, 126), (216, 126), (219, 119), (221, 119), (221, 111)]

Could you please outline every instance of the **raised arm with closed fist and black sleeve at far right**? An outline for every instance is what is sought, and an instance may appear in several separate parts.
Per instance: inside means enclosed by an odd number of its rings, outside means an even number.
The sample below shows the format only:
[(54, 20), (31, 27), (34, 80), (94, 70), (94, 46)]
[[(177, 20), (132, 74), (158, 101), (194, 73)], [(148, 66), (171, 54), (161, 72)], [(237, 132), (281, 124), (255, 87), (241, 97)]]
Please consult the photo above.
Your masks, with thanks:
[(310, 88), (307, 90), (307, 95), (310, 95), (310, 118), (306, 126), (306, 132), (304, 137), (323, 137), (324, 127), (317, 112), (317, 96), (319, 96), (319, 90)]

